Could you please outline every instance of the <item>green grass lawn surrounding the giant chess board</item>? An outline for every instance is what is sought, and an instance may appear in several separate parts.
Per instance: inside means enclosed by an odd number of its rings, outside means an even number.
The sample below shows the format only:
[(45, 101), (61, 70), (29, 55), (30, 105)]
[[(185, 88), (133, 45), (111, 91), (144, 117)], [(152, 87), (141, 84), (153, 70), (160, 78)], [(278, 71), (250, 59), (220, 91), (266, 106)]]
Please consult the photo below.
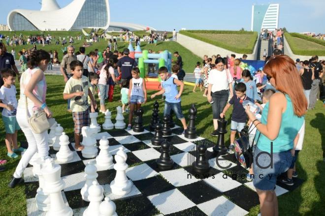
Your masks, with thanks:
[[(73, 137), (73, 121), (71, 113), (66, 112), (66, 101), (63, 100), (62, 92), (64, 89), (64, 81), (61, 76), (47, 75), (48, 84), (47, 104), (53, 111), (54, 117), (65, 130), (69, 137)], [(18, 83), (17, 83), (18, 85)], [(211, 105), (202, 97), (202, 92), (192, 92), (192, 86), (186, 86), (182, 95), (182, 110), (185, 116), (188, 116), (188, 109), (192, 103), (197, 108), (196, 129), (198, 135), (208, 138), (214, 142), (217, 138), (211, 137), (213, 130), (212, 109)], [(19, 91), (19, 86), (17, 86)], [(114, 102), (106, 103), (106, 108), (112, 111), (112, 120), (116, 116), (116, 107), (120, 106), (118, 86), (115, 87)], [(148, 91), (151, 95), (153, 91)], [(19, 95), (19, 92), (18, 94)], [(19, 97), (19, 96), (18, 96)], [(149, 98), (149, 97), (148, 97)], [(160, 114), (163, 111), (163, 101), (161, 97), (157, 97), (160, 102)], [(150, 124), (152, 106), (154, 100), (148, 99), (148, 103), (143, 105), (144, 125)], [(97, 99), (97, 104), (99, 104)], [(227, 111), (226, 119), (228, 120), (227, 135), (225, 136), (226, 145), (229, 144), (230, 132), (230, 110)], [(127, 115), (125, 115), (127, 118)], [(114, 120), (113, 120), (114, 121)], [(99, 114), (98, 123), (104, 122), (103, 114)], [(306, 133), (304, 139), (303, 150), (299, 154), (297, 161), (297, 173), (299, 178), (304, 179), (302, 186), (292, 192), (286, 193), (279, 197), (279, 213), (280, 215), (324, 215), (325, 209), (325, 162), (323, 162), (325, 150), (325, 131), (324, 131), (324, 108), (320, 101), (317, 102), (314, 110), (308, 111), (306, 114)], [(176, 124), (181, 125), (179, 121)], [(7, 184), (17, 166), (20, 157), (17, 159), (8, 159), (6, 157), (6, 148), (4, 145), (4, 127), (0, 121), (0, 159), (7, 159), (5, 165), (6, 171), (1, 172), (0, 181), (0, 215), (1, 216), (25, 216), (26, 215), (26, 196), (25, 187), (20, 185), (15, 189), (7, 188)], [(22, 132), (18, 134), (18, 140), (26, 140)], [(70, 141), (72, 141), (70, 139)], [(323, 146), (322, 146), (323, 141)], [(250, 215), (256, 216), (259, 207), (251, 209)]]

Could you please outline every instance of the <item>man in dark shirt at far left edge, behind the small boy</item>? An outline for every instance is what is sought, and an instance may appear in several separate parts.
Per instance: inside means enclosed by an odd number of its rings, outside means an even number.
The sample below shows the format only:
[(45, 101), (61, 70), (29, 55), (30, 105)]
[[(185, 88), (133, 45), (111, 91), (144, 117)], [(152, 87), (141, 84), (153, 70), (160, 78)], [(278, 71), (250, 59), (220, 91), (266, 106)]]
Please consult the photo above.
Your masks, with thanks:
[[(15, 65), (15, 59), (13, 55), (7, 53), (7, 48), (2, 42), (0, 42), (0, 71), (6, 68), (14, 70), (15, 73), (17, 74), (18, 80), (20, 80), (19, 72)], [(2, 85), (3, 85), (3, 80), (0, 77), (0, 86)]]

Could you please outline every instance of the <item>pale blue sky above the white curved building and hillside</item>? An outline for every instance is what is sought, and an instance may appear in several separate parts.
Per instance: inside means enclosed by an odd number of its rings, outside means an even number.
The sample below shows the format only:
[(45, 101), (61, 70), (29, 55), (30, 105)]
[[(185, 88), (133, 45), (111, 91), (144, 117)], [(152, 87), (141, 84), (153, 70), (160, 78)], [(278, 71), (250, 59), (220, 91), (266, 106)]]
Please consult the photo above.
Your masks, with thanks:
[[(0, 24), (12, 9), (39, 10), (41, 0), (1, 0)], [(61, 7), (72, 0), (57, 0)], [(171, 31), (174, 28), (251, 29), (253, 4), (279, 3), (279, 27), (290, 32), (325, 33), (325, 0), (109, 0), (113, 22), (126, 22)]]

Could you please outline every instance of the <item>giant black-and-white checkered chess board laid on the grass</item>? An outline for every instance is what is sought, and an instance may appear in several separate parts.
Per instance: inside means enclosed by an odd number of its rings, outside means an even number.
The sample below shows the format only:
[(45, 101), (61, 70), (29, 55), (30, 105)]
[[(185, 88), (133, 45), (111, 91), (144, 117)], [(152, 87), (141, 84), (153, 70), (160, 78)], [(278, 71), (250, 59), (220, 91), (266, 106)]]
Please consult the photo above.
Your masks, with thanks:
[[(113, 130), (98, 133), (99, 139), (103, 136), (109, 140), (109, 151), (115, 155), (120, 147), (128, 155), (126, 170), (127, 177), (133, 182), (131, 192), (124, 196), (114, 195), (109, 184), (113, 181), (116, 171), (97, 170), (97, 181), (104, 188), (104, 195), (110, 197), (116, 204), (116, 213), (119, 216), (244, 216), (250, 209), (259, 205), (259, 198), (252, 182), (246, 181), (248, 171), (237, 164), (233, 154), (221, 156), (216, 164), (213, 154), (212, 141), (197, 137), (187, 139), (181, 135), (183, 129), (176, 126), (172, 135), (165, 136), (170, 141), (170, 155), (174, 161), (171, 170), (161, 171), (156, 167), (156, 159), (160, 157), (159, 146), (151, 144), (153, 132), (146, 129), (142, 133), (126, 130)], [(22, 143), (27, 147), (26, 142)], [(204, 144), (210, 164), (210, 172), (206, 176), (195, 176), (191, 163), (197, 156), (195, 146)], [(74, 216), (82, 216), (89, 202), (82, 199), (80, 189), (85, 185), (85, 165), (95, 159), (82, 157), (81, 151), (73, 151), (73, 160), (60, 163), (56, 160), (57, 151), (50, 147), (50, 155), (62, 167), (61, 177), (65, 188), (61, 191), (66, 205), (73, 210)], [(100, 149), (98, 148), (98, 152)], [(114, 161), (115, 163), (115, 161)], [(45, 216), (45, 212), (37, 210), (35, 195), (38, 188), (38, 179), (33, 177), (32, 166), (24, 171), (24, 181), (27, 199), (28, 216)], [(301, 179), (294, 179), (294, 186), (277, 184), (276, 194), (282, 195), (301, 185)]]

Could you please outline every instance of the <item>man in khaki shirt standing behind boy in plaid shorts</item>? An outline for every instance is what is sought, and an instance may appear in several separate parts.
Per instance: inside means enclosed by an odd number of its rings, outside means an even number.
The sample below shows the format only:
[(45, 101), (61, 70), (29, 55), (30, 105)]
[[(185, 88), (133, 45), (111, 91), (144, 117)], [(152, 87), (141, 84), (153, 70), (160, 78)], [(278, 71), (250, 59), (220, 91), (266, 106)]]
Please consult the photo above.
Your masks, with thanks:
[[(70, 69), (71, 61), (78, 60), (77, 56), (75, 56), (73, 53), (74, 53), (74, 47), (72, 45), (69, 45), (67, 47), (67, 54), (65, 56), (63, 56), (62, 61), (61, 61), (60, 71), (65, 79), (65, 82), (67, 82), (70, 79), (70, 77), (72, 77), (71, 69)], [(71, 112), (70, 99), (67, 100), (67, 103), (68, 103), (67, 111)]]

